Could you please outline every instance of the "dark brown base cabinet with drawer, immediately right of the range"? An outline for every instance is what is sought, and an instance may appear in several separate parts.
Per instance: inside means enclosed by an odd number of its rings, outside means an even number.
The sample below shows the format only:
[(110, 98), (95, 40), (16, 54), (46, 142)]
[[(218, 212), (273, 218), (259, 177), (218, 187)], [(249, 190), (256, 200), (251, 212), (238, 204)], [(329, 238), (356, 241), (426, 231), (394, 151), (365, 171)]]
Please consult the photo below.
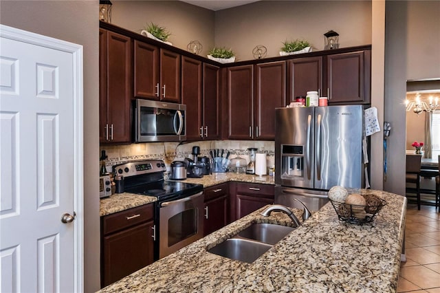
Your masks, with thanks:
[(206, 236), (228, 224), (229, 192), (228, 183), (205, 188), (205, 220), (203, 236)]

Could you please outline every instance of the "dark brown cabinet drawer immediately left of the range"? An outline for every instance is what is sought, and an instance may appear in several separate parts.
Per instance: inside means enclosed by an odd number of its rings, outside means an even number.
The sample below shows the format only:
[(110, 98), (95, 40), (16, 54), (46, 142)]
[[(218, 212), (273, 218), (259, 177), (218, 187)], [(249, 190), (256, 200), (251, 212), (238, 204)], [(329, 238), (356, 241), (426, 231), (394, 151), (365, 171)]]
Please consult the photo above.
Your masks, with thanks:
[(111, 232), (133, 226), (149, 219), (153, 219), (154, 204), (146, 204), (137, 208), (130, 208), (119, 213), (102, 218), (102, 233), (107, 235)]

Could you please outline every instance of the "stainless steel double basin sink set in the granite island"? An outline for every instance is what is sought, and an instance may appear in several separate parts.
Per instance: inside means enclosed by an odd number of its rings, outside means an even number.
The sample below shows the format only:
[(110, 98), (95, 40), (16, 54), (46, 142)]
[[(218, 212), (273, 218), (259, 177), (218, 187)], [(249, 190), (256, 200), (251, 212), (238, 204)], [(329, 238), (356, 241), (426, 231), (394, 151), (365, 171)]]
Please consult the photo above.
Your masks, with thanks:
[(295, 228), (276, 224), (256, 223), (230, 239), (210, 248), (208, 252), (236, 261), (253, 263)]

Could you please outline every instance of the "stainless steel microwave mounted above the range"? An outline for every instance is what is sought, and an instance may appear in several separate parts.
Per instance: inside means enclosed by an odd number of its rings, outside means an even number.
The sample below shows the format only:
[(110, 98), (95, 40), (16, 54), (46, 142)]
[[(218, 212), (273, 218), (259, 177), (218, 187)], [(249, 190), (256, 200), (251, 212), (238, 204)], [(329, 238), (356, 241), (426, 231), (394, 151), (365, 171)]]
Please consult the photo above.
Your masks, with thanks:
[(186, 105), (135, 100), (135, 142), (186, 140)]

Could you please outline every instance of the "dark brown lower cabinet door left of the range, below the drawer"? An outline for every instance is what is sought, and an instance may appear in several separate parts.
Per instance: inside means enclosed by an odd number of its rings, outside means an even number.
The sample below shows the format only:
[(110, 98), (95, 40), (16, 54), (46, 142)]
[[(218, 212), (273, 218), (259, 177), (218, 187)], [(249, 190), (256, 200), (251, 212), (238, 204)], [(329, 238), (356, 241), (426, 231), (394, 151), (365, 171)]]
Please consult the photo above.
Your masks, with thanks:
[(101, 287), (153, 263), (153, 221), (104, 237)]

